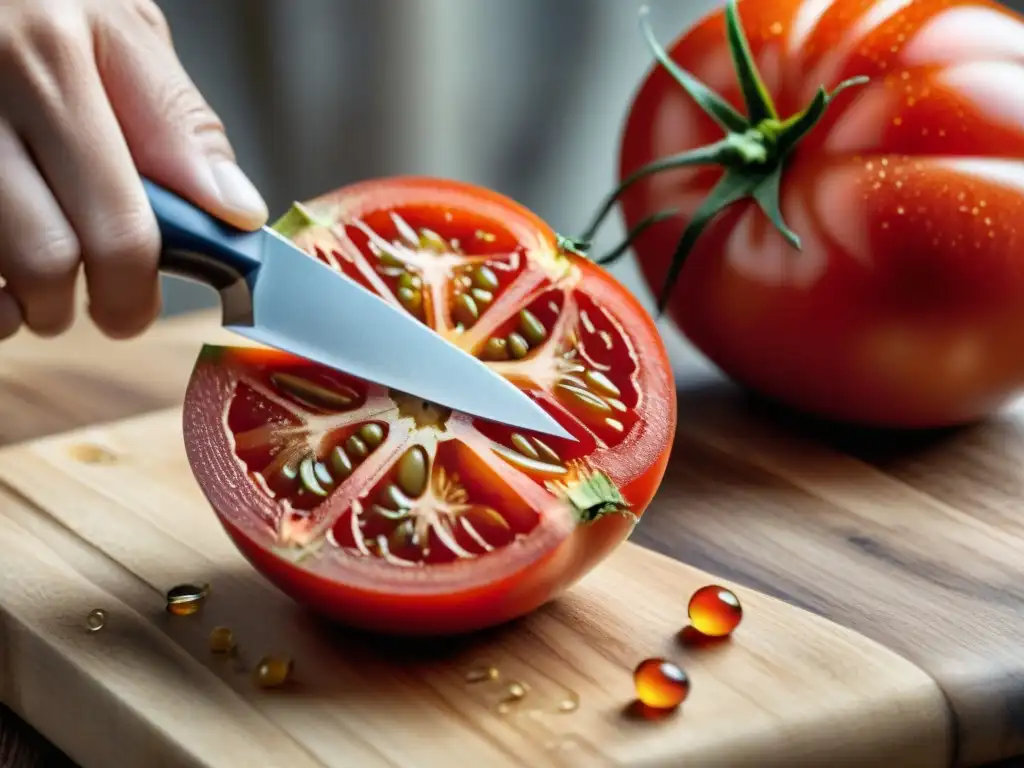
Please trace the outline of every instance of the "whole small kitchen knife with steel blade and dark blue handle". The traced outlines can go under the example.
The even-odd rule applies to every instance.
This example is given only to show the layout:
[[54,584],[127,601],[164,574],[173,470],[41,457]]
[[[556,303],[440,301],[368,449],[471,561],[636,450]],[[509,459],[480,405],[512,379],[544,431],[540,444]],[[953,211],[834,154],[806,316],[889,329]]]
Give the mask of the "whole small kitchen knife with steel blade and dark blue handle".
[[481,419],[575,439],[484,362],[273,229],[237,229],[142,184],[163,240],[160,270],[216,290],[227,330]]

